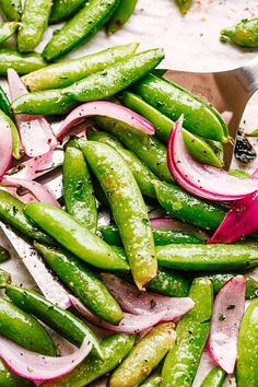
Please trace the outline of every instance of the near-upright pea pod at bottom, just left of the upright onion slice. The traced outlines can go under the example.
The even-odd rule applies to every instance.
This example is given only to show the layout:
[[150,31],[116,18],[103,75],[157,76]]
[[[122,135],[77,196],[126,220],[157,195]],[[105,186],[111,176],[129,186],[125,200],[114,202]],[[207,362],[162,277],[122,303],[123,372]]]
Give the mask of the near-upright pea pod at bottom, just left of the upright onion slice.
[[210,280],[195,279],[189,297],[196,306],[177,324],[176,344],[168,352],[162,368],[162,387],[191,387],[206,345],[213,304]]

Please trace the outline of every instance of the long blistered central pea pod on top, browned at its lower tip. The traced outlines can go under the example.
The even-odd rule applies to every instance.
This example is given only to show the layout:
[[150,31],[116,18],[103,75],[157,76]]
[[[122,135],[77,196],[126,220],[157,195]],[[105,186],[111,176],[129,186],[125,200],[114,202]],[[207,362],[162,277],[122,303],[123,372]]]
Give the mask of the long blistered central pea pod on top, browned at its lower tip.
[[140,290],[155,275],[157,263],[145,203],[126,162],[110,146],[80,140],[80,146],[106,194]]

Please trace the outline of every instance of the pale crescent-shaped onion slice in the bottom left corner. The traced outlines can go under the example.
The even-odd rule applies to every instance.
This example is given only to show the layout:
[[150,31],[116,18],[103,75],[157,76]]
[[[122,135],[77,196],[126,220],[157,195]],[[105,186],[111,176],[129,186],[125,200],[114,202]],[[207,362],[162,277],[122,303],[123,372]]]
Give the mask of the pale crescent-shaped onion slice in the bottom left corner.
[[92,342],[85,337],[79,350],[67,356],[54,357],[27,351],[16,343],[0,337],[0,357],[21,377],[31,380],[51,380],[74,370],[91,352]]

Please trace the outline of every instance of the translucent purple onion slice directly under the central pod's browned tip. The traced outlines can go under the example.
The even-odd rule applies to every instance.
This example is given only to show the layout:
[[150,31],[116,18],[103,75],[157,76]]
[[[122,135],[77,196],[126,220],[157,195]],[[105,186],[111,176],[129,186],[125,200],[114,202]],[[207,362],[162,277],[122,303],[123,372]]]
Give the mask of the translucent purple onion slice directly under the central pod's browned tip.
[[136,286],[112,273],[102,273],[101,277],[122,310],[133,315],[149,315],[165,310],[163,321],[173,321],[195,306],[190,297],[167,297],[151,292],[139,292]]

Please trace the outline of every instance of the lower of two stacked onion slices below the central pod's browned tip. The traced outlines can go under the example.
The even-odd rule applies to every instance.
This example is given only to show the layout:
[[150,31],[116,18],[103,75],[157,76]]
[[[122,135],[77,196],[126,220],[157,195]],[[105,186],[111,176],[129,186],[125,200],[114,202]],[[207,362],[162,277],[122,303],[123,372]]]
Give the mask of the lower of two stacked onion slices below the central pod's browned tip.
[[107,329],[112,332],[120,332],[120,333],[139,333],[144,331],[145,329],[154,327],[156,324],[163,320],[166,315],[166,310],[160,313],[152,313],[150,315],[137,316],[131,315],[129,313],[124,313],[124,318],[119,322],[119,325],[112,325],[104,320],[101,320],[96,315],[94,315],[91,310],[89,310],[80,300],[74,296],[70,296],[71,304],[74,308],[85,317],[90,322]]

